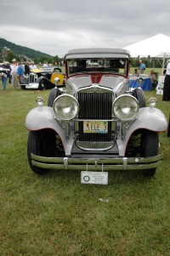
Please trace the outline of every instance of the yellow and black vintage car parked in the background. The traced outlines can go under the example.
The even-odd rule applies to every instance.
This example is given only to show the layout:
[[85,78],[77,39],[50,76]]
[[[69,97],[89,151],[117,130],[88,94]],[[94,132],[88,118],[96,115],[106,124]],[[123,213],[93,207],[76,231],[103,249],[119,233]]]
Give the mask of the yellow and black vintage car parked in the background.
[[29,88],[38,90],[54,88],[55,77],[59,77],[58,86],[65,85],[65,74],[58,66],[48,66],[36,70],[31,70],[29,76],[20,77],[20,87],[22,89]]

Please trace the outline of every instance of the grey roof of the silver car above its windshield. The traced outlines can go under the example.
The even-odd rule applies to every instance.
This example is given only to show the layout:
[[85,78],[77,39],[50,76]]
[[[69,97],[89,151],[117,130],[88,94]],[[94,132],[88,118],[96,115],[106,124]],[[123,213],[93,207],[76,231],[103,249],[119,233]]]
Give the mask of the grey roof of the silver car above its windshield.
[[65,59],[75,58],[128,58],[129,51],[122,48],[77,48],[65,54]]

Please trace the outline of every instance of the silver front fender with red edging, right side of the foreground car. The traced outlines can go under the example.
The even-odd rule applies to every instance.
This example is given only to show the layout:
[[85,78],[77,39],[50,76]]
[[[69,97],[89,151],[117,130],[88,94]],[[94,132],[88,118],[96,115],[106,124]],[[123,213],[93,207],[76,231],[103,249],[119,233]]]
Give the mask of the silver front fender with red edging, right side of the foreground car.
[[117,139],[119,155],[124,156],[127,148],[127,142],[134,131],[146,129],[156,133],[162,133],[167,130],[167,118],[162,111],[156,108],[144,107],[139,109],[137,119],[127,128],[125,139]]

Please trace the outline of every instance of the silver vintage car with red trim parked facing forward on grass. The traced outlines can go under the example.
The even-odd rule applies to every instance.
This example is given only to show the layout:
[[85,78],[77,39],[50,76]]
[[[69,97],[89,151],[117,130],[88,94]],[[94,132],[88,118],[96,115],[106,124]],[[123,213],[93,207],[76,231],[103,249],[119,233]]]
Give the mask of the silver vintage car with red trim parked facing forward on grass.
[[129,89],[130,62],[125,49],[86,48],[65,54],[65,90],[53,88],[48,106],[38,97],[37,107],[26,116],[33,172],[82,170],[85,183],[90,177],[102,183],[99,174],[112,170],[156,173],[163,158],[159,133],[167,130],[167,119],[155,98],[146,106],[144,91]]

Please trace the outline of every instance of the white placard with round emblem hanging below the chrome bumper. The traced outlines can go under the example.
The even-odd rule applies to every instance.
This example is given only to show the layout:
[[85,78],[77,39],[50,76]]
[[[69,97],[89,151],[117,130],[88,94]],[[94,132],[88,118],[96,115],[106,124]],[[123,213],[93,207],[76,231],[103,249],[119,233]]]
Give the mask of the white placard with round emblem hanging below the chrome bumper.
[[106,172],[81,172],[81,183],[82,184],[108,184],[108,173]]

